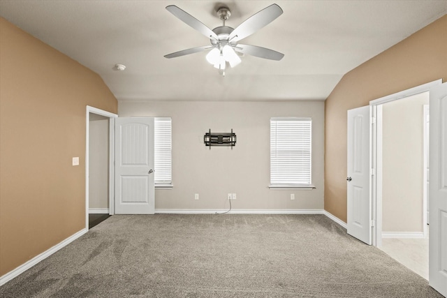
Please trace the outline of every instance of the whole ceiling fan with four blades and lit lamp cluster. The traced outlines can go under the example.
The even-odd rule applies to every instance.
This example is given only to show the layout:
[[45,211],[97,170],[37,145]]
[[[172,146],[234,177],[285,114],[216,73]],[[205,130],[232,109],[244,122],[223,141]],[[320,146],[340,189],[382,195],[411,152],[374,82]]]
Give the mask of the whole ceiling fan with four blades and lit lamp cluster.
[[212,30],[175,5],[166,6],[166,9],[185,24],[196,29],[207,38],[210,38],[211,41],[211,45],[193,47],[191,49],[167,54],[165,55],[166,58],[175,58],[210,50],[206,57],[207,61],[210,62],[210,64],[213,64],[215,68],[219,69],[222,75],[225,75],[227,63],[230,64],[231,67],[234,67],[241,62],[241,59],[236,52],[276,61],[279,61],[284,57],[284,54],[266,49],[265,47],[242,45],[241,43],[238,43],[239,40],[250,36],[279,17],[283,11],[277,4],[272,4],[252,15],[235,29],[225,25],[225,21],[230,17],[230,10],[225,6],[217,10],[217,15],[223,22],[222,26]]

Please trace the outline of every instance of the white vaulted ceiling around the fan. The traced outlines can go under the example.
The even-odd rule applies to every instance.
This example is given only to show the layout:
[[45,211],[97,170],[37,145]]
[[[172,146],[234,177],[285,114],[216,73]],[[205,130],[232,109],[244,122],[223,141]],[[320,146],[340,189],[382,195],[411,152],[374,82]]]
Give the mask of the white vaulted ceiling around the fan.
[[[221,77],[206,52],[163,57],[210,43],[168,5],[213,29],[221,4],[235,28],[272,3],[284,13],[242,43],[282,52],[281,61],[246,55]],[[0,0],[2,17],[101,75],[120,101],[324,100],[349,70],[446,13],[447,0]]]

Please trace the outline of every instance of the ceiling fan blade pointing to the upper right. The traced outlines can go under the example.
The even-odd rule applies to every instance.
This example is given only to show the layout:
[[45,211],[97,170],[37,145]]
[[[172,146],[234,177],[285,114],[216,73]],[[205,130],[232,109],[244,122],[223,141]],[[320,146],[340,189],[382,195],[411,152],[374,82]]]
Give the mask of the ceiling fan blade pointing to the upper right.
[[259,11],[258,13],[252,15],[247,20],[242,22],[233,32],[228,36],[229,40],[236,42],[242,38],[255,33],[259,29],[265,27],[265,25],[270,24],[274,19],[282,14],[282,9],[277,4],[272,4]]

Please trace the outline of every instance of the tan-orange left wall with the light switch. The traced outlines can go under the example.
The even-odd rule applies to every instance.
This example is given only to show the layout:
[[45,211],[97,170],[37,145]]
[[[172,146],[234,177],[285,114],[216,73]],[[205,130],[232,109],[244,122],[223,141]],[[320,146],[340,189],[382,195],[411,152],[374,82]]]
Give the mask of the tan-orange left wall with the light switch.
[[[0,276],[85,228],[86,105],[101,77],[0,18]],[[80,157],[80,165],[71,159]]]

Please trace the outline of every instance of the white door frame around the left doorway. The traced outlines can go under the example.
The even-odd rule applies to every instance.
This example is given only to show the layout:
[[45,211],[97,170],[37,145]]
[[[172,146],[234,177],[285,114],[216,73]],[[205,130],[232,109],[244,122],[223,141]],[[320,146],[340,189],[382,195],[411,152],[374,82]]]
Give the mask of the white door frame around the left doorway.
[[114,153],[114,131],[112,130],[115,123],[115,118],[118,117],[117,114],[113,114],[111,112],[107,112],[104,110],[100,110],[96,107],[91,107],[87,105],[86,114],[85,114],[85,228],[89,229],[89,134],[90,134],[90,113],[98,114],[104,117],[109,118],[109,214],[113,214],[114,210],[113,202],[114,197],[114,166],[113,166],[113,158],[115,156]]

